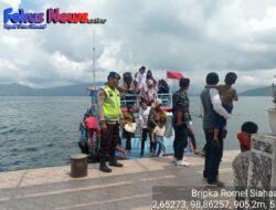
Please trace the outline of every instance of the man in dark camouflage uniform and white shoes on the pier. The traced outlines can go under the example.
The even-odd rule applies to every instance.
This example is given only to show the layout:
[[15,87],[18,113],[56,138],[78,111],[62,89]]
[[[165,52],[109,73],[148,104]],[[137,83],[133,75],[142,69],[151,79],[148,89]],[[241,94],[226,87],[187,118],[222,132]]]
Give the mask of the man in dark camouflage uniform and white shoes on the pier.
[[192,129],[192,119],[189,111],[190,103],[187,94],[189,86],[189,78],[180,78],[180,88],[172,95],[173,150],[177,166],[190,166],[190,164],[183,159],[184,148],[188,145],[188,129]]

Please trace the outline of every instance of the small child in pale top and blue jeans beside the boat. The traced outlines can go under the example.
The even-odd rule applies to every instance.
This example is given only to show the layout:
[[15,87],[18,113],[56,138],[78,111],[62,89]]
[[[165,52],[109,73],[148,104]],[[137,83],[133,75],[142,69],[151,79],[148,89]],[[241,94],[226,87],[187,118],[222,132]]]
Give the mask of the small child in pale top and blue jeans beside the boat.
[[163,145],[163,135],[166,132],[166,119],[162,117],[158,123],[157,126],[155,127],[153,132],[152,132],[152,139],[157,143],[158,145],[158,151],[156,157],[159,157],[159,155],[161,154],[161,151],[163,151],[163,155],[166,155],[166,147]]

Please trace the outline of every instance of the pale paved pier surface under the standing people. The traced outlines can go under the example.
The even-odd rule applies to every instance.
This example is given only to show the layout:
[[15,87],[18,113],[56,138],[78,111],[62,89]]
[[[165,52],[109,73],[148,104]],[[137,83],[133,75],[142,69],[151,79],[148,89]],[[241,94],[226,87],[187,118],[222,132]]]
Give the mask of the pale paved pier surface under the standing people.
[[[232,160],[238,150],[224,153],[220,180],[232,186]],[[70,166],[0,172],[1,210],[117,210],[151,209],[153,186],[204,187],[204,160],[188,156],[190,167],[177,167],[172,157],[124,160],[112,174],[88,165],[88,176],[73,179]]]

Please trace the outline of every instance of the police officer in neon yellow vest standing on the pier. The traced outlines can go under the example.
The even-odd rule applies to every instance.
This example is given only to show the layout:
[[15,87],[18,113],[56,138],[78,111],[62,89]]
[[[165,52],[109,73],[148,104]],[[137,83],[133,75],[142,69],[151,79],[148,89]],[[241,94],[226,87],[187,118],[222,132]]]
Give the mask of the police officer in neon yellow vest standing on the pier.
[[98,115],[100,120],[100,146],[99,146],[99,170],[112,172],[106,165],[109,157],[109,166],[123,167],[123,164],[115,159],[115,151],[119,138],[120,93],[117,90],[120,76],[110,72],[107,76],[107,84],[103,86],[98,95]]

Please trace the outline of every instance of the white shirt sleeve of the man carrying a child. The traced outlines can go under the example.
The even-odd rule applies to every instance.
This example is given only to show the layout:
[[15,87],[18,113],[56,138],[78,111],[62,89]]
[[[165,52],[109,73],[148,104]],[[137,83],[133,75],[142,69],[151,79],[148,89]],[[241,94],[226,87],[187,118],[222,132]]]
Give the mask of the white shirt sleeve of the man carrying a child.
[[[225,119],[230,119],[229,112],[222,106],[222,101],[221,101],[219,91],[216,88],[210,88],[210,96],[211,96],[211,102],[213,104],[214,111],[219,115],[223,116]],[[201,104],[201,114],[202,116],[204,115],[204,107],[202,104]]]

